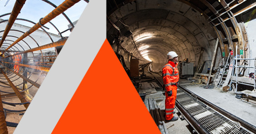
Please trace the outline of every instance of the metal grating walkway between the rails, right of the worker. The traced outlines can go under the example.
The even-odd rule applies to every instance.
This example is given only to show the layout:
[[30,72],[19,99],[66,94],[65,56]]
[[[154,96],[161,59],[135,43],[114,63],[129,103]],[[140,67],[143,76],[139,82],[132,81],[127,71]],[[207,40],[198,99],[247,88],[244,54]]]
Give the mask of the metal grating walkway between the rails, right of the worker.
[[177,89],[177,100],[209,134],[253,134],[239,123],[227,119],[193,96]]

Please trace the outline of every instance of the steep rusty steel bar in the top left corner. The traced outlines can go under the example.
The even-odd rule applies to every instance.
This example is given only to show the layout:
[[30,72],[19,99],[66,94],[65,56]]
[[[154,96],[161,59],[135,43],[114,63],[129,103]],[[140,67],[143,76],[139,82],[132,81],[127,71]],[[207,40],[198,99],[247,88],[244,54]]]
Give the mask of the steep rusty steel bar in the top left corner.
[[14,21],[16,20],[18,14],[19,14],[20,10],[22,9],[23,5],[25,4],[25,2],[26,2],[26,0],[16,0],[13,10],[11,12],[8,24],[5,27],[5,32],[4,32],[1,42],[0,42],[0,47],[4,43],[7,34],[9,33],[12,25],[14,24]]

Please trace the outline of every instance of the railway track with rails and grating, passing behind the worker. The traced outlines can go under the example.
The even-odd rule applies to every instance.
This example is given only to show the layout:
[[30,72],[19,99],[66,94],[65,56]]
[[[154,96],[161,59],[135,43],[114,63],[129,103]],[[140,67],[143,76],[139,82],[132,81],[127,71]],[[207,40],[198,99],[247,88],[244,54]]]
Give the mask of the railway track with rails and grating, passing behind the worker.
[[[149,73],[163,84],[162,76]],[[256,127],[178,86],[176,107],[198,134],[256,134]]]

